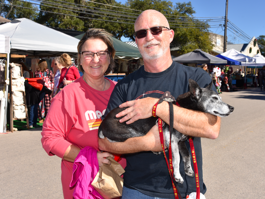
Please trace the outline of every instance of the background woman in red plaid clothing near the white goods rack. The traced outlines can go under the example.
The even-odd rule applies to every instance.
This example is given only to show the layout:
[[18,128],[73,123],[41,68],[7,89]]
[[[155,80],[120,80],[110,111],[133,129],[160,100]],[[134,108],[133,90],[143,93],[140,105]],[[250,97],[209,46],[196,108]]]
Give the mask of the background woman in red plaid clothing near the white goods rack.
[[[53,71],[48,69],[47,62],[44,59],[41,59],[38,63],[37,70],[34,73],[35,77],[44,77],[48,76],[53,88]],[[47,116],[47,113],[51,106],[51,96],[52,92],[45,91],[44,98],[41,100],[39,107],[38,107],[38,117],[39,123],[43,123],[44,118]]]

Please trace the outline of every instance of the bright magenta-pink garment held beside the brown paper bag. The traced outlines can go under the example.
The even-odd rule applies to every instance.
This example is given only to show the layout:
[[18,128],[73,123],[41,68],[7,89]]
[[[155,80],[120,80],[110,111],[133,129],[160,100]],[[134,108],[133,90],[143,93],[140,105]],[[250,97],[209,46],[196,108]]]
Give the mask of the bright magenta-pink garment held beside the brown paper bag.
[[70,183],[70,187],[77,184],[73,194],[75,199],[104,199],[91,185],[98,171],[97,150],[92,147],[81,149],[74,162]]

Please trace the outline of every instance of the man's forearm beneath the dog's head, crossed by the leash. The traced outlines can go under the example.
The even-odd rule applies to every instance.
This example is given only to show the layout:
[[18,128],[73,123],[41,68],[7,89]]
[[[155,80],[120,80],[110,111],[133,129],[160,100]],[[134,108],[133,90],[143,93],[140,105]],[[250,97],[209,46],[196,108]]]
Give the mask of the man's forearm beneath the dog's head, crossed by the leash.
[[[174,129],[186,135],[194,137],[206,137],[215,139],[220,131],[220,117],[193,111],[178,106],[174,108]],[[156,114],[164,122],[169,124],[169,106],[167,102],[158,105]]]

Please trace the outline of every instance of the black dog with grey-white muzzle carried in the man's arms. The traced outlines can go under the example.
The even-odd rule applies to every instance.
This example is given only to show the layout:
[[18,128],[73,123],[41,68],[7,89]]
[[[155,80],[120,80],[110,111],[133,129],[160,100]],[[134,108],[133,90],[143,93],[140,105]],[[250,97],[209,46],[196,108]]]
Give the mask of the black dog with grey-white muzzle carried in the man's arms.
[[[224,103],[221,97],[212,90],[212,82],[206,88],[200,88],[199,85],[189,79],[189,91],[178,96],[177,100],[170,94],[165,92],[163,100],[173,101],[173,104],[178,104],[185,108],[194,111],[207,112],[212,115],[219,117],[226,117],[234,111],[234,107]],[[149,117],[146,119],[140,119],[132,124],[127,125],[125,122],[120,123],[119,119],[115,115],[126,108],[115,108],[110,111],[106,118],[102,121],[98,135],[100,138],[107,138],[110,142],[124,142],[130,137],[137,137],[145,135],[154,125],[156,125],[157,118]],[[169,147],[170,132],[169,125],[164,123],[163,134],[165,137],[165,145]],[[185,145],[185,140],[188,139],[188,135],[182,134],[177,130],[173,129],[171,137],[171,148],[172,148],[172,162],[174,168],[174,178],[177,182],[183,183],[184,180],[181,177],[179,171],[180,155],[183,157],[185,174],[193,177],[194,172],[190,163],[190,155]]]

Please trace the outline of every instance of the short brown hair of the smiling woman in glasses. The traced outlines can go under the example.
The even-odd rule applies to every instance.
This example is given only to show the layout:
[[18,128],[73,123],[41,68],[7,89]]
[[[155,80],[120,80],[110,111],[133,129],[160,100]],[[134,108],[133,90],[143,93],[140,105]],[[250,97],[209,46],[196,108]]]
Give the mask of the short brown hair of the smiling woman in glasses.
[[104,75],[107,75],[111,71],[113,71],[113,68],[115,67],[114,57],[116,50],[113,47],[113,41],[112,41],[112,35],[108,33],[104,29],[100,28],[91,28],[86,31],[86,33],[83,35],[82,39],[79,41],[78,44],[78,66],[79,70],[84,73],[83,67],[80,65],[80,52],[82,51],[83,44],[89,40],[89,39],[100,39],[107,45],[107,50],[109,51],[110,55],[110,64],[104,73]]

